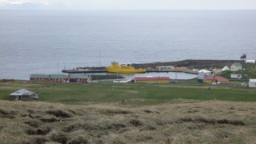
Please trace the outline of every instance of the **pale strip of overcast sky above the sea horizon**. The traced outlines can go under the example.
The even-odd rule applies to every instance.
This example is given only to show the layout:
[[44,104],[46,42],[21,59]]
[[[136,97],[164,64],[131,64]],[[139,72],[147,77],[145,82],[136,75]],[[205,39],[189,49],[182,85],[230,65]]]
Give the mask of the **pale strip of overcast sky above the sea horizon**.
[[23,2],[64,3],[70,10],[256,10],[256,0],[0,0]]

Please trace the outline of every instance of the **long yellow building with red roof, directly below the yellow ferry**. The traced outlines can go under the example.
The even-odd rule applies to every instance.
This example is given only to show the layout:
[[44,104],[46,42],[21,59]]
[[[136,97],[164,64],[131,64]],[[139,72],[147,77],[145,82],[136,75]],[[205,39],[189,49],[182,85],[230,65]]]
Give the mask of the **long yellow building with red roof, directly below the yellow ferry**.
[[145,83],[169,83],[169,77],[135,77],[134,82],[145,82]]

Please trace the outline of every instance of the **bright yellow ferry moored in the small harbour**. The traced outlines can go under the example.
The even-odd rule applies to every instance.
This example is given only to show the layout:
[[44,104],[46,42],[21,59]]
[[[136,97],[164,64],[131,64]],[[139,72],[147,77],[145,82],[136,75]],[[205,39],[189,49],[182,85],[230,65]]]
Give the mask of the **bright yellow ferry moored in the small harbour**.
[[118,66],[118,62],[111,62],[111,66],[106,66],[110,73],[146,73],[146,69],[134,69],[134,66]]

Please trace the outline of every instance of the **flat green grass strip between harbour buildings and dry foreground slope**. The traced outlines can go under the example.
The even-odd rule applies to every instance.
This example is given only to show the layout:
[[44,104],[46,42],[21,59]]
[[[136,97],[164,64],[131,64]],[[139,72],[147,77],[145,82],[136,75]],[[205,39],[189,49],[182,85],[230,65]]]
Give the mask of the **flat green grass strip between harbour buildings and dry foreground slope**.
[[[114,86],[114,90],[113,90]],[[137,84],[78,84],[60,83],[58,85],[26,85],[0,84],[0,99],[9,100],[10,93],[25,88],[39,94],[42,102],[60,102],[64,104],[109,103],[123,99],[154,99],[161,103],[174,98],[194,100],[224,100],[256,102],[256,89],[218,86],[208,90],[208,86],[174,86],[167,85],[137,85]],[[155,103],[153,102],[153,103]],[[139,102],[138,102],[139,103]],[[150,102],[143,102],[150,105]],[[152,104],[153,104],[152,103]]]

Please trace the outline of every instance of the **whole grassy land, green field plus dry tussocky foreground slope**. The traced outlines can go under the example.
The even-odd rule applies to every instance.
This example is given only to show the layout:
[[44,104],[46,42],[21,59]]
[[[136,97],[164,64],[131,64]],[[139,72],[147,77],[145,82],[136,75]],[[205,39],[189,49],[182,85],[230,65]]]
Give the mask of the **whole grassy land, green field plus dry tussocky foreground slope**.
[[0,83],[0,143],[256,143],[256,89],[208,88]]

